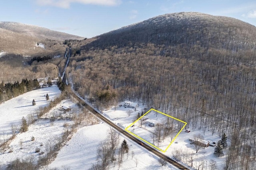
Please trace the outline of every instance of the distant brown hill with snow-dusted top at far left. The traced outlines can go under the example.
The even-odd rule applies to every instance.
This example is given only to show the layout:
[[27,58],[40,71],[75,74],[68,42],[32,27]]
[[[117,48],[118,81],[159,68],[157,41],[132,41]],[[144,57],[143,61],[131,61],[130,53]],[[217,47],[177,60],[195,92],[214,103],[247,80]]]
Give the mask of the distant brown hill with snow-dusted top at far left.
[[[17,22],[0,22],[0,52],[30,56],[38,53],[54,53],[63,47],[65,39],[84,39],[76,35],[53,31],[36,25]],[[42,46],[36,46],[43,43]],[[50,50],[50,51],[49,51]],[[61,51],[65,51],[62,49]],[[0,56],[1,57],[1,56]]]

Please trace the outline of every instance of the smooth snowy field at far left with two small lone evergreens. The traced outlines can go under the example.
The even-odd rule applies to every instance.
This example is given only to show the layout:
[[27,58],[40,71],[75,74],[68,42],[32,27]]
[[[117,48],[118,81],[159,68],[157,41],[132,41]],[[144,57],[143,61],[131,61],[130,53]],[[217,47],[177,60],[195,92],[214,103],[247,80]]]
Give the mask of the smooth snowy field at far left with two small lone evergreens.
[[[50,100],[46,101],[46,94],[50,100],[60,96],[61,92],[56,85],[48,88],[40,88],[12,98],[0,104],[0,139],[9,139],[12,136],[12,125],[20,125],[22,117],[27,119],[30,114],[35,114],[39,108],[48,106]],[[32,106],[32,100],[36,105]]]

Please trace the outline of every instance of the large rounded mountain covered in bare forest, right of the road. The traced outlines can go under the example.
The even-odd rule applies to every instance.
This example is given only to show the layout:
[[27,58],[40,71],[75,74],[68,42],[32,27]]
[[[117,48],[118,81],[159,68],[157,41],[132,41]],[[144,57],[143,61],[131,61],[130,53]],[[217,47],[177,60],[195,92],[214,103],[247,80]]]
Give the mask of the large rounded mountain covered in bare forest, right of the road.
[[69,78],[100,109],[140,101],[191,129],[226,133],[231,143],[225,169],[256,166],[255,26],[181,12],[72,47],[81,51],[70,59]]

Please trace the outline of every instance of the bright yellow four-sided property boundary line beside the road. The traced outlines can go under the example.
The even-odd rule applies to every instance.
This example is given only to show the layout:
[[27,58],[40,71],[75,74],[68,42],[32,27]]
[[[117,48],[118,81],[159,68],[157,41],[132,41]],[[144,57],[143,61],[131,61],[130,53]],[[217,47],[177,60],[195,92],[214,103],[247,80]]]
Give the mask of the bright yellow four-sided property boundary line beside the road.
[[[148,113],[149,113],[150,111],[152,111],[152,110],[153,110],[153,111],[156,111],[156,112],[158,112],[158,113],[161,113],[161,114],[163,114],[163,115],[166,115],[165,113],[162,113],[161,111],[158,111],[158,110],[155,110],[155,109],[150,109],[150,110],[147,111],[144,115],[148,114]],[[131,127],[132,125],[134,125],[134,123],[136,123],[137,121],[139,121],[144,115],[142,115],[140,118],[138,118],[138,119],[137,119],[136,121],[134,121],[132,124],[130,124],[130,125],[129,125],[128,127],[126,127],[124,130],[127,131],[128,133],[134,135],[134,136],[137,137],[138,139],[140,139],[140,140],[142,140],[142,141],[148,143],[148,144],[151,145],[152,147],[154,147],[154,148],[156,148],[156,149],[162,151],[162,152],[166,152],[166,150],[172,145],[172,143],[174,142],[174,140],[176,139],[176,137],[178,137],[178,135],[180,134],[180,132],[181,132],[181,131],[184,129],[184,127],[187,125],[186,122],[184,122],[184,121],[182,121],[182,120],[180,120],[180,119],[177,119],[177,118],[172,117],[172,116],[170,116],[170,115],[166,115],[166,116],[168,116],[168,117],[171,117],[172,119],[175,119],[175,120],[177,120],[177,121],[180,121],[180,122],[184,123],[184,126],[180,129],[180,131],[179,131],[178,134],[174,137],[174,139],[172,139],[170,145],[168,145],[168,147],[167,147],[165,150],[162,150],[162,149],[156,147],[155,145],[153,145],[152,143],[146,141],[145,139],[142,139],[142,138],[139,137],[138,135],[135,135],[135,134],[132,133],[131,131],[128,131],[128,128]]]

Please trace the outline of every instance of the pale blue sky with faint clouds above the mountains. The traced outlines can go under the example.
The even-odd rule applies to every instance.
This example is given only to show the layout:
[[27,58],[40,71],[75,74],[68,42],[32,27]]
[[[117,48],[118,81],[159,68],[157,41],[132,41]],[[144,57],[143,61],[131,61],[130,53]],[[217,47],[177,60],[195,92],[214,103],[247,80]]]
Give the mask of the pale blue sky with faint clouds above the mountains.
[[5,0],[0,21],[90,38],[174,12],[229,16],[256,25],[255,0]]

